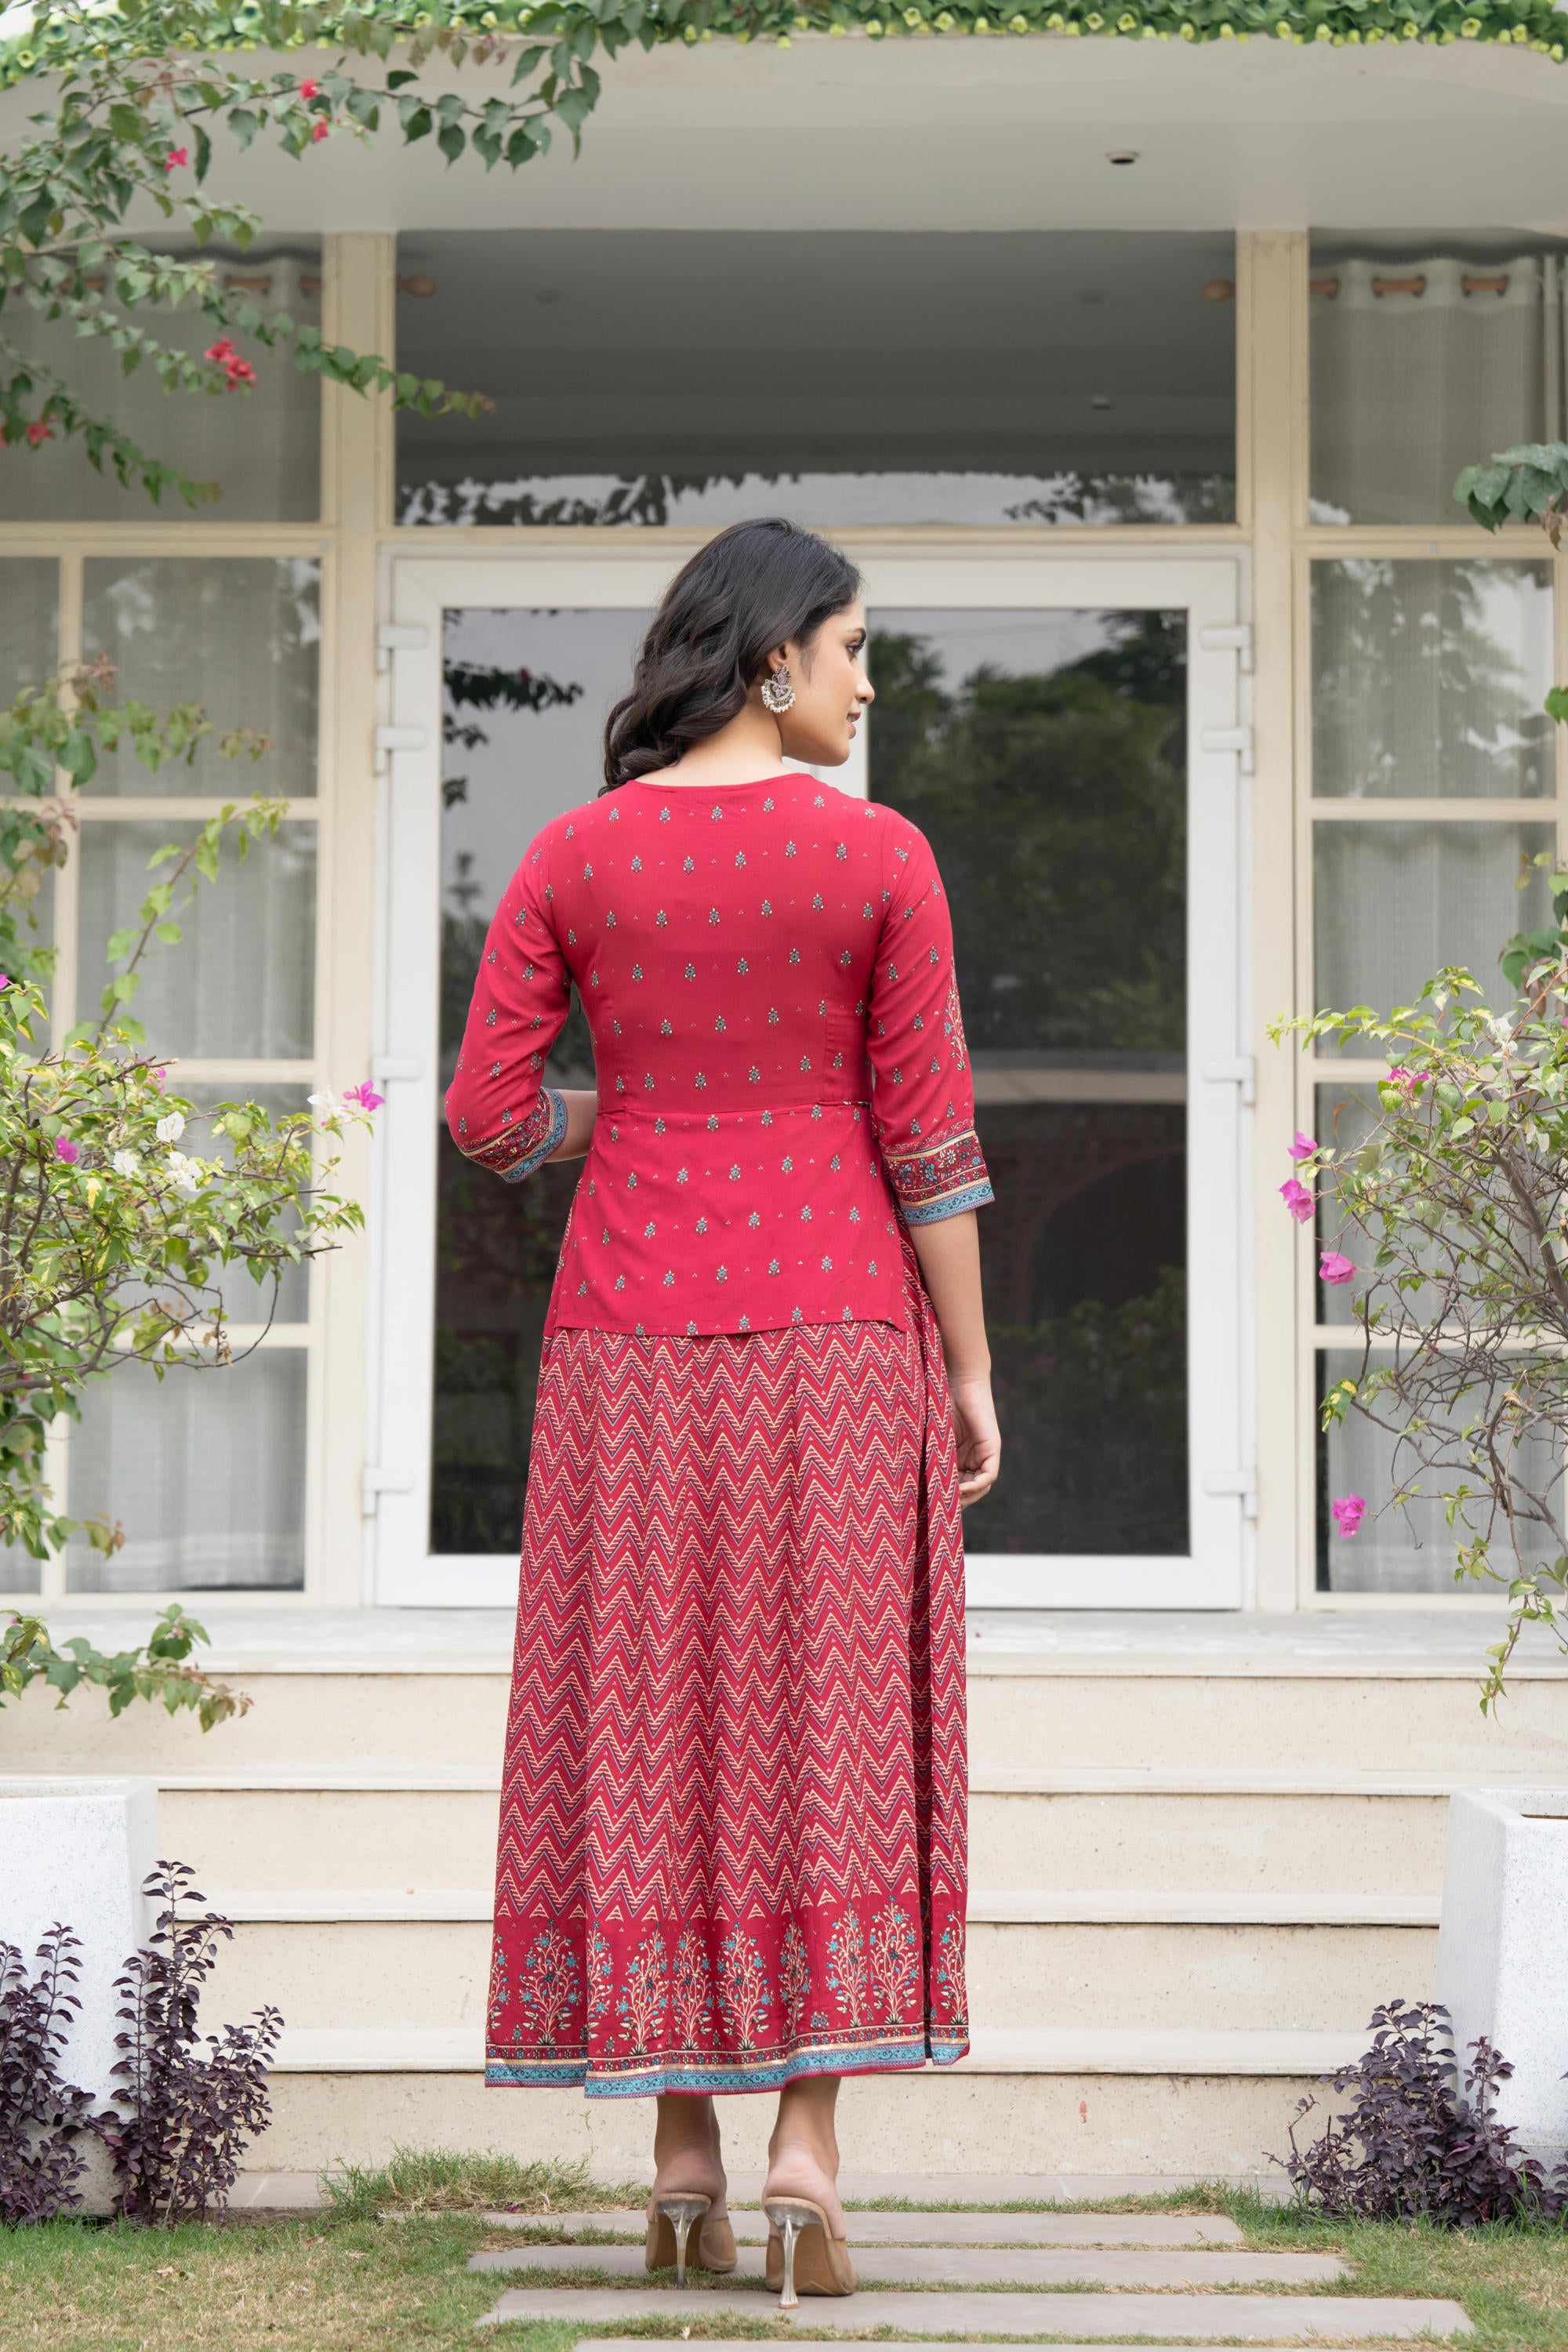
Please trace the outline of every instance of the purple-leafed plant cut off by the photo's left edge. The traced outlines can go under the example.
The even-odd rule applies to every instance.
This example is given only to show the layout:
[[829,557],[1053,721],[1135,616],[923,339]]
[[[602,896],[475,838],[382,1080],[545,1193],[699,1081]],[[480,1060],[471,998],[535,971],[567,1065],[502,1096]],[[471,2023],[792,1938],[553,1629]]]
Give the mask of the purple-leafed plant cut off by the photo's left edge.
[[0,1943],[0,2223],[54,2220],[80,2206],[87,2159],[78,2138],[96,2126],[92,2098],[61,2074],[80,1940],[59,1922],[38,1945],[31,1978],[21,1950]]

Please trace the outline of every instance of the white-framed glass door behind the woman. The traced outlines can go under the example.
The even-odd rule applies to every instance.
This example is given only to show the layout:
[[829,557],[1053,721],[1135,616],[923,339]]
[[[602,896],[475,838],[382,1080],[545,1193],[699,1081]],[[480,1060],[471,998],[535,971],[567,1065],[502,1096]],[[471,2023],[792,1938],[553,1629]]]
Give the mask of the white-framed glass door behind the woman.
[[[543,1315],[576,1167],[510,1188],[440,1101],[489,915],[599,786],[668,562],[407,562],[388,776],[383,1602],[515,1592]],[[1004,1479],[992,1606],[1237,1606],[1244,734],[1234,564],[867,564],[877,703],[830,776],[931,837],[954,915]],[[395,946],[393,946],[395,941]],[[581,1011],[550,1080],[590,1084]]]

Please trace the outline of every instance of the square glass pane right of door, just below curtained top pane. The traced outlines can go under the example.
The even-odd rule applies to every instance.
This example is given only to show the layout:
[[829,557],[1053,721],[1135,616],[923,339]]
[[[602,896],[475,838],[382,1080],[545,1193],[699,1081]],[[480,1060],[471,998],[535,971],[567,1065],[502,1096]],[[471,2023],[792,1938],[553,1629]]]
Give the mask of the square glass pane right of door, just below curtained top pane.
[[1552,567],[1312,567],[1319,800],[1542,800],[1556,790]]

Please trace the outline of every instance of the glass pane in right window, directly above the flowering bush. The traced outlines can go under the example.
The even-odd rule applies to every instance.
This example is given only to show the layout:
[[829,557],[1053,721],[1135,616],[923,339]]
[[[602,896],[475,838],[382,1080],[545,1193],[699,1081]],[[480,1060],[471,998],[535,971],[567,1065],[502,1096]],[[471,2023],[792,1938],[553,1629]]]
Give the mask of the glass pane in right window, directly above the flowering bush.
[[1552,913],[1530,868],[1554,847],[1549,826],[1316,823],[1312,835],[1314,1004],[1392,1011],[1443,964],[1467,964],[1507,1002],[1497,957]]

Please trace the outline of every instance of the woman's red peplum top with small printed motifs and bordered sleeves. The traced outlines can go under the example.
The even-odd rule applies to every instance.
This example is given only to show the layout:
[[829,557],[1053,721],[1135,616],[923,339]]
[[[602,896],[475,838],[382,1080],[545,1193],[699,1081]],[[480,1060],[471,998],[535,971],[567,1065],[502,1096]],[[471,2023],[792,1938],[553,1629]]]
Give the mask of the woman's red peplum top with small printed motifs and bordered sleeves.
[[447,1094],[508,1181],[562,1141],[576,983],[599,1115],[548,1331],[905,1324],[898,1218],[992,1197],[926,837],[816,776],[623,783],[529,844]]

